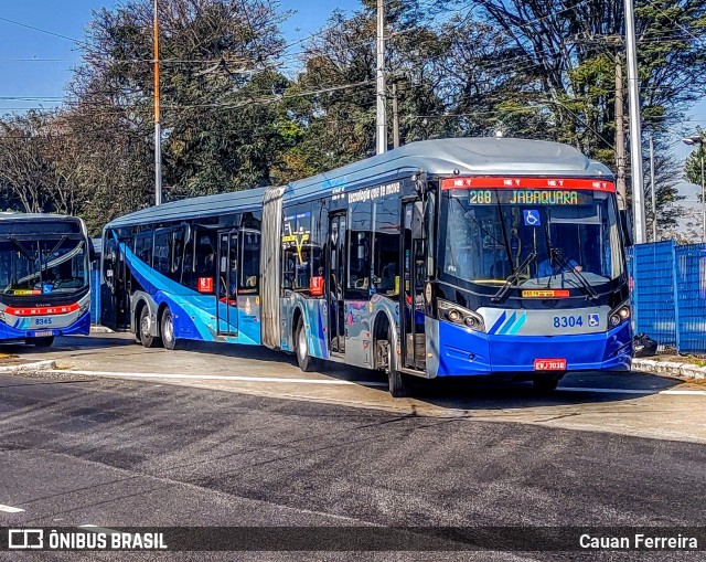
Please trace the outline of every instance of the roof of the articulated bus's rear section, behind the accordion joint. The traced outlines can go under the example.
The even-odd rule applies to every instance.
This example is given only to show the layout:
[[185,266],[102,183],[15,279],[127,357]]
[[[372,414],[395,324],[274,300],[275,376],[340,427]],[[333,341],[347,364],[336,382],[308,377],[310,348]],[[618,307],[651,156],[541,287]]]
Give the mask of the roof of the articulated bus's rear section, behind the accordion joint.
[[203,195],[199,198],[172,201],[159,206],[149,206],[115,219],[106,227],[119,229],[133,224],[151,224],[160,222],[173,222],[182,219],[197,219],[200,216],[214,216],[225,213],[238,213],[255,211],[263,208],[264,188],[247,189],[216,195]]

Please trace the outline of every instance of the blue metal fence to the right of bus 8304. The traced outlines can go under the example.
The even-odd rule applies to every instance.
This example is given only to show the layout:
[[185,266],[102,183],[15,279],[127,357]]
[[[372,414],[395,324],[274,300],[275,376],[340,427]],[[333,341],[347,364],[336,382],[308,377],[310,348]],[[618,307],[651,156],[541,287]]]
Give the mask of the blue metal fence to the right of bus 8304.
[[635,332],[706,353],[706,244],[639,244],[628,255]]

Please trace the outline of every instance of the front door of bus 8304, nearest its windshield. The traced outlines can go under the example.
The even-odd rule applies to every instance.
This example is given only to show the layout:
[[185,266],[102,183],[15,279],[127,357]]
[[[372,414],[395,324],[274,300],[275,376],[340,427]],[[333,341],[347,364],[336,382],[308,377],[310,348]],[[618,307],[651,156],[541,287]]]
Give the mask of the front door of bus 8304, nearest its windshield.
[[404,367],[424,371],[426,367],[425,335],[425,243],[421,201],[403,205],[405,235],[403,242],[403,290],[400,290],[402,356]]

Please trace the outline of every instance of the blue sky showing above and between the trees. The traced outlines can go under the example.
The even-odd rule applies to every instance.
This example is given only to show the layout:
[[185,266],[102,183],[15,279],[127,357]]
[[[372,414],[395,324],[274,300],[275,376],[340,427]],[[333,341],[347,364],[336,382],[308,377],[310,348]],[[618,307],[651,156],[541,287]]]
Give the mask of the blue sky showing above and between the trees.
[[[52,33],[81,40],[94,10],[114,8],[118,3],[116,0],[3,1],[0,8],[0,114],[58,105],[71,70],[81,61],[81,53],[74,42]],[[335,3],[280,0],[280,3],[282,10],[296,11],[284,28],[289,42],[322,28],[334,8],[352,11],[360,6],[359,0],[336,0]],[[292,47],[295,50],[299,46]],[[692,119],[682,124],[681,130],[671,134],[672,150],[678,158],[685,158],[691,151],[680,141],[681,136],[693,131],[697,125],[706,127],[706,100],[693,108]],[[689,199],[694,199],[694,190],[695,187],[682,187],[682,192]]]

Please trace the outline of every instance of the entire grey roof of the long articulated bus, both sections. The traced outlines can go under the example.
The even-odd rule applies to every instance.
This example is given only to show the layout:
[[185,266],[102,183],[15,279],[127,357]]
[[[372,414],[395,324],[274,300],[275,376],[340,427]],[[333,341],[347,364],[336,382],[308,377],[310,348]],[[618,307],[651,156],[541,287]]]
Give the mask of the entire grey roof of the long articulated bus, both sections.
[[[458,170],[459,176],[612,177],[608,167],[588,159],[568,145],[463,137],[410,142],[383,155],[295,181],[287,187],[285,200],[303,200],[334,188],[360,184],[373,178],[392,179],[418,170],[432,176],[452,176]],[[258,188],[173,201],[115,219],[107,226],[172,222],[256,210],[263,205],[264,193],[265,189]]]

